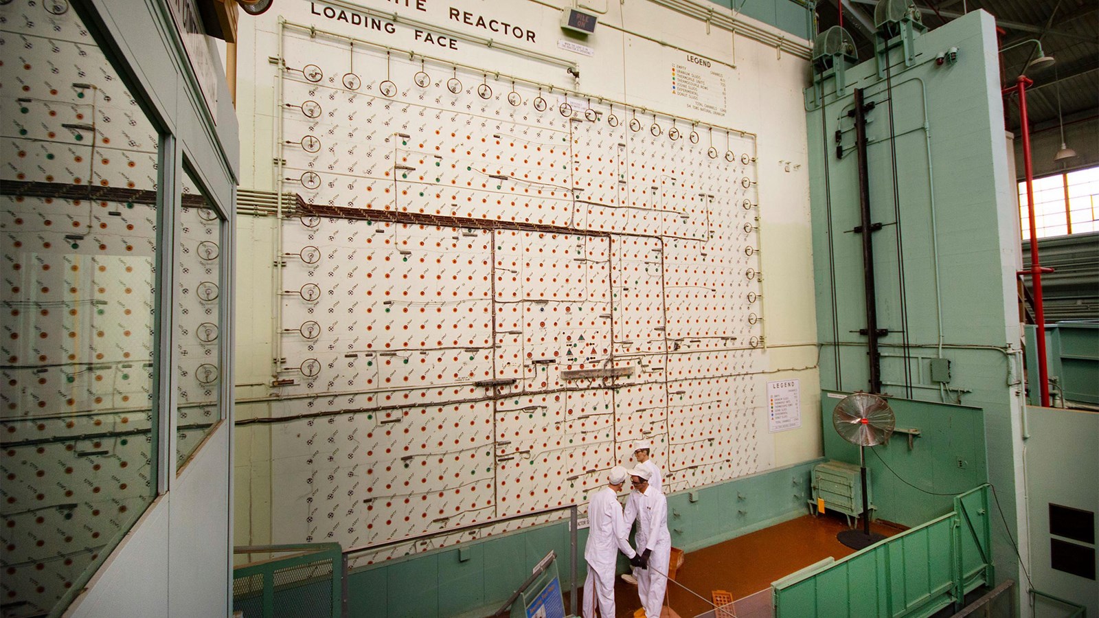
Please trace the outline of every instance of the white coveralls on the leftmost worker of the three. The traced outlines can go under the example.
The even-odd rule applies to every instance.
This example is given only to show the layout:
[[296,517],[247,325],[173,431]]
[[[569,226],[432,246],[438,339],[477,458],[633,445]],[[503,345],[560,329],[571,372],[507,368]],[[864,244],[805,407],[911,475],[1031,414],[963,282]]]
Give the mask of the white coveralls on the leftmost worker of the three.
[[630,528],[622,520],[622,505],[610,487],[596,492],[588,501],[588,542],[584,560],[588,562],[588,577],[584,581],[584,618],[595,618],[596,599],[603,618],[614,618],[614,567],[618,552],[626,558],[636,552],[626,537]]

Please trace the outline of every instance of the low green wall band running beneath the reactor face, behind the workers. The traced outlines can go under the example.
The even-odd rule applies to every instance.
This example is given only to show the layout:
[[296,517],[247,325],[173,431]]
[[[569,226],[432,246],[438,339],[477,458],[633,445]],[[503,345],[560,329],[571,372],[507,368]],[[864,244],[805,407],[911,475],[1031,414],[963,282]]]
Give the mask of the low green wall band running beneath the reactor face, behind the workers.
[[[668,496],[671,544],[708,547],[808,514],[809,473],[823,460],[745,476]],[[578,585],[587,576],[578,540]],[[480,617],[498,609],[542,558],[557,553],[562,588],[569,587],[568,519],[462,543],[434,552],[353,569],[351,616],[370,618]],[[625,572],[625,562],[619,570]]]

